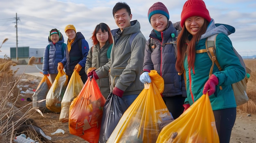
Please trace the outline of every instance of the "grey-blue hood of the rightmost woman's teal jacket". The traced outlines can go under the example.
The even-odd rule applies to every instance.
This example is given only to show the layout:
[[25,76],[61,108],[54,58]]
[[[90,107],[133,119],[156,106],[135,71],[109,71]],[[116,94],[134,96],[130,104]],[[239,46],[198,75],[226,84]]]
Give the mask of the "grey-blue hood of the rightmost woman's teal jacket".
[[218,34],[218,33],[224,33],[226,35],[230,35],[232,33],[235,33],[235,31],[236,30],[233,26],[230,26],[227,24],[215,24],[214,20],[211,19],[211,22],[209,23],[207,30],[201,36],[200,39],[204,39],[204,38],[210,37],[211,35]]

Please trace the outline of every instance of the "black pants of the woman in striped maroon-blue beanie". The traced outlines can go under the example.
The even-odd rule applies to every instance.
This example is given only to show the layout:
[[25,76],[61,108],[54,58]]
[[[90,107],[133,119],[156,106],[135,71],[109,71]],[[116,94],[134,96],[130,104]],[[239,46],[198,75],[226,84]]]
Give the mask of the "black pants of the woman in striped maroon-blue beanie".
[[163,100],[174,119],[177,119],[183,113],[185,97],[177,95],[174,97],[163,97]]

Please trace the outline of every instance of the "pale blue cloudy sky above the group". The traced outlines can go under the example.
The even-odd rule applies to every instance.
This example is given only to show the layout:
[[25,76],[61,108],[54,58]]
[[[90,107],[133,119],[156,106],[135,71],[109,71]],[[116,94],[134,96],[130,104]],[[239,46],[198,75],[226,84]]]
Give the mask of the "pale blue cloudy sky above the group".
[[[10,57],[10,47],[16,47],[16,13],[18,18],[18,47],[45,48],[49,31],[58,29],[67,43],[64,29],[73,24],[92,46],[92,32],[101,22],[117,29],[112,9],[120,0],[1,0],[0,4],[0,58]],[[146,39],[153,29],[148,22],[148,9],[155,2],[166,5],[171,22],[180,21],[186,0],[122,0],[131,9],[132,20],[138,20]],[[233,46],[242,56],[256,55],[256,1],[255,0],[204,0],[215,23],[234,26],[229,35]]]

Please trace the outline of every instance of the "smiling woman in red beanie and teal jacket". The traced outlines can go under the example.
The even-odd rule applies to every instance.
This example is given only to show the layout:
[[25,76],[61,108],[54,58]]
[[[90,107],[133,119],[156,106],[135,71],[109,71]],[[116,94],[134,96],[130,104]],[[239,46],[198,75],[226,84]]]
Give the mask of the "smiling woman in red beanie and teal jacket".
[[[228,37],[235,29],[226,24],[215,24],[204,1],[188,0],[181,13],[183,27],[177,39],[176,69],[186,75],[187,98],[190,106],[203,94],[209,95],[220,143],[229,143],[236,120],[236,101],[231,84],[245,77],[245,69],[233,51]],[[206,49],[207,37],[216,35],[216,57],[222,71],[213,65]],[[220,86],[222,88],[220,88]]]

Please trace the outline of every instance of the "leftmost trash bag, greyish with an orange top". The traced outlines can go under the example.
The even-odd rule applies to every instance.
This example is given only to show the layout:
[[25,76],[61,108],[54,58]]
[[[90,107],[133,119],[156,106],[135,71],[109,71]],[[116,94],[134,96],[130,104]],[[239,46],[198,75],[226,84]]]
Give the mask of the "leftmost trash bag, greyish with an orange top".
[[[41,79],[40,83],[38,84],[36,91],[32,95],[33,99],[33,108],[38,107],[41,112],[48,112],[49,110],[46,108],[46,95],[49,89],[51,88],[52,83],[48,79],[47,75],[44,75]],[[43,101],[41,101],[43,100]],[[39,102],[38,102],[39,101]]]

